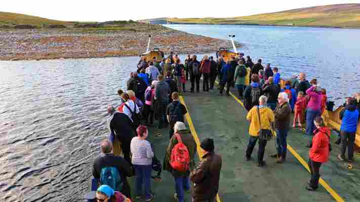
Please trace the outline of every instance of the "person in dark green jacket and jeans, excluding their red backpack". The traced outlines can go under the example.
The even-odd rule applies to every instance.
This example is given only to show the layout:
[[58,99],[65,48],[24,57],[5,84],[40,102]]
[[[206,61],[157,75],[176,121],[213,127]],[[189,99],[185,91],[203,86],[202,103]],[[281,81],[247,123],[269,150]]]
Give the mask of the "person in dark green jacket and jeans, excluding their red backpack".
[[[196,153],[196,142],[190,131],[186,129],[186,126],[183,122],[176,122],[174,125],[174,130],[175,135],[172,136],[170,139],[170,143],[168,145],[164,158],[163,168],[164,170],[169,171],[174,177],[176,190],[176,193],[174,194],[175,200],[183,202],[184,192],[190,190],[190,171],[192,171],[195,167],[194,157]],[[177,145],[179,142],[182,142],[186,146],[189,153],[189,167],[185,171],[176,170],[171,166],[171,156],[173,153],[173,149],[175,149],[175,145]]]

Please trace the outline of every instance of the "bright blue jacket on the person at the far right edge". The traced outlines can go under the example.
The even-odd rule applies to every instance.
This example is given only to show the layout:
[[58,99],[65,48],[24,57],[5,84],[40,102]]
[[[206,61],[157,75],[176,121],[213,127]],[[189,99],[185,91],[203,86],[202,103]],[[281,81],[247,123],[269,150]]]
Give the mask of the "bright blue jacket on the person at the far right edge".
[[355,105],[346,106],[342,117],[340,130],[344,132],[356,132],[358,118],[359,118],[359,111],[356,109],[356,106]]

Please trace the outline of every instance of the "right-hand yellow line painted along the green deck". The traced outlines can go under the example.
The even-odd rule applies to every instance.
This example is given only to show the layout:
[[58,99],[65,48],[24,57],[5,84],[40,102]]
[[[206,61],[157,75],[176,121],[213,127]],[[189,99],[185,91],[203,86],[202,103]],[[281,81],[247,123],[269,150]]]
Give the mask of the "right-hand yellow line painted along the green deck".
[[[218,84],[218,82],[216,81],[216,83]],[[241,100],[239,100],[235,95],[233,95],[231,92],[230,92],[230,95],[235,98],[236,102],[239,103],[240,105],[242,105],[244,107],[244,104],[243,102],[241,102]],[[274,134],[276,136],[276,132],[274,131]],[[295,149],[293,149],[293,147],[291,147],[289,144],[288,144],[288,150],[291,152],[291,154],[294,155],[294,157],[305,167],[305,169],[307,171],[310,172],[310,169],[307,165],[307,163],[305,162],[305,160],[300,157],[300,155],[295,151]],[[321,185],[323,185],[323,187],[334,197],[334,199],[337,201],[337,202],[344,202],[344,200],[341,198],[341,196],[335,192],[334,189],[332,189],[328,183],[325,182],[325,180],[323,178],[320,178],[319,179],[319,183]]]

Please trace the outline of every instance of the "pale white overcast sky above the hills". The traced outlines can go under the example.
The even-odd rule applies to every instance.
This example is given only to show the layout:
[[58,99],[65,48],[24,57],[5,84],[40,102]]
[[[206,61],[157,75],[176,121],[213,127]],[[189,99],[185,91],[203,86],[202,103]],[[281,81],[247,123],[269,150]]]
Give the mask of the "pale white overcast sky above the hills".
[[[56,3],[55,3],[56,2]],[[0,11],[64,21],[140,20],[177,17],[236,17],[331,4],[360,3],[360,0],[302,1],[139,1],[139,0],[3,0]]]

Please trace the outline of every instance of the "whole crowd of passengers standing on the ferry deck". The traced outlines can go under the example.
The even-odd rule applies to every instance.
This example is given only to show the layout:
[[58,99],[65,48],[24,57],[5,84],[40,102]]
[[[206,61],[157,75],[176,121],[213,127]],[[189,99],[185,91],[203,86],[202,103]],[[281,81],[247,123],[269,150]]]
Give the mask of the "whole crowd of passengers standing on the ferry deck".
[[[179,95],[186,92],[186,82],[190,80],[190,92],[198,93],[201,78],[204,92],[214,90],[216,79],[219,81],[219,95],[222,95],[225,88],[226,95],[229,95],[230,88],[236,87],[238,97],[249,111],[246,118],[250,121],[250,138],[245,160],[251,160],[253,149],[259,140],[259,167],[265,165],[265,146],[272,138],[273,131],[276,132],[276,154],[270,157],[276,158],[276,163],[284,163],[291,124],[294,128],[298,125],[303,131],[302,127],[306,122],[304,132],[309,136],[306,146],[310,147],[308,165],[311,171],[306,189],[316,190],[319,168],[328,161],[331,150],[330,129],[322,118],[328,101],[326,90],[318,85],[316,79],[307,81],[305,73],[300,73],[299,79],[297,74],[293,74],[290,80],[281,85],[279,69],[271,68],[271,64],[264,68],[261,63],[262,60],[259,59],[254,64],[250,56],[245,60],[243,54],[239,57],[219,57],[217,61],[208,56],[198,61],[195,55],[188,55],[184,63],[173,53],[161,62],[156,61],[156,58],[147,61],[142,57],[137,65],[138,70],[130,75],[127,90],[119,89],[117,92],[120,105],[107,107],[110,135],[107,140],[102,141],[102,156],[94,161],[93,166],[92,190],[97,190],[97,200],[130,200],[131,189],[127,178],[135,175],[136,198],[141,198],[145,193],[145,200],[151,201],[155,193],[151,191],[150,181],[151,178],[159,179],[161,170],[173,175],[174,198],[177,201],[184,201],[184,193],[190,187],[192,201],[215,200],[219,190],[221,157],[214,153],[214,140],[206,138],[200,145],[204,156],[198,166],[195,166],[196,143],[191,132],[186,129],[186,107],[179,102]],[[247,80],[250,80],[249,85]],[[360,93],[356,93],[353,98],[347,99],[341,113],[342,125],[338,141],[342,144],[341,154],[338,155],[340,161],[353,161],[359,103]],[[154,119],[157,120],[157,126],[154,126]],[[154,147],[147,140],[148,127],[169,127],[170,142],[163,164],[156,158]],[[114,156],[114,138],[121,142],[124,158]],[[158,174],[151,176],[152,170],[158,171]],[[98,188],[98,185],[101,186]]]

